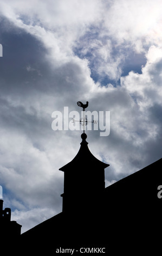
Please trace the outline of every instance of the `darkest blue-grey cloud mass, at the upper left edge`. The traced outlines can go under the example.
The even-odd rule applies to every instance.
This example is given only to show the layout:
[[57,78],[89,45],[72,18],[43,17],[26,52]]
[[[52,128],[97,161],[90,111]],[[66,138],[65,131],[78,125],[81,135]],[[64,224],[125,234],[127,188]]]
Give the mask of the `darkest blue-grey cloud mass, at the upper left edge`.
[[[2,25],[4,20],[6,19],[1,21]],[[8,31],[5,31],[6,26]],[[32,87],[38,86],[37,78],[48,70],[44,59],[46,50],[32,35],[23,29],[17,29],[10,22],[2,26],[0,36],[4,48],[0,68],[1,91],[13,94],[29,93]],[[41,84],[39,86],[41,89]]]

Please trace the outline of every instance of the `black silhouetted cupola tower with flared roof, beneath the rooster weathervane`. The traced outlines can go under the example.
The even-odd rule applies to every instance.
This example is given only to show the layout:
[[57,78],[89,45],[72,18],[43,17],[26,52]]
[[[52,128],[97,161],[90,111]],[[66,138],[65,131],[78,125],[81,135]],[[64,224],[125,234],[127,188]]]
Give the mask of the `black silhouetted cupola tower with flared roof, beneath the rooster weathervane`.
[[81,135],[81,147],[74,159],[60,168],[64,172],[62,211],[84,214],[101,211],[105,191],[105,168],[109,164],[96,159],[88,148],[86,133]]

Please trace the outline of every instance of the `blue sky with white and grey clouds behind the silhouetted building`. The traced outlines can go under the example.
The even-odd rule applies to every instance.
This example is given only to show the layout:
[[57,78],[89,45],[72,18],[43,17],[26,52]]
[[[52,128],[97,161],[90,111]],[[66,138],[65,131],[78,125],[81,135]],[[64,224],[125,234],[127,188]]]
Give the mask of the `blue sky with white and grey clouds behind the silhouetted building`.
[[22,232],[61,212],[59,168],[80,148],[54,111],[110,111],[109,136],[87,131],[107,186],[161,158],[161,13],[161,0],[0,0],[0,185]]

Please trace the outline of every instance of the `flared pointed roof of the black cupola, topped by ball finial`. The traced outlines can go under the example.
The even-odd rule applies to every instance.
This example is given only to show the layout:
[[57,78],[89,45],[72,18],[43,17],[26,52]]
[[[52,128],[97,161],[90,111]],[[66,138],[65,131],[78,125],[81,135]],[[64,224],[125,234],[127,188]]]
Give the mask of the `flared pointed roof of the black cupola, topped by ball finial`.
[[107,163],[103,163],[100,160],[96,159],[96,157],[90,152],[88,148],[88,142],[86,141],[87,135],[86,133],[82,133],[81,135],[82,142],[81,147],[77,155],[74,157],[74,159],[67,163],[65,166],[61,167],[59,170],[62,170],[64,172],[67,169],[75,169],[76,167],[80,167],[84,163],[86,166],[95,166],[95,168],[102,168],[105,169],[109,166]]

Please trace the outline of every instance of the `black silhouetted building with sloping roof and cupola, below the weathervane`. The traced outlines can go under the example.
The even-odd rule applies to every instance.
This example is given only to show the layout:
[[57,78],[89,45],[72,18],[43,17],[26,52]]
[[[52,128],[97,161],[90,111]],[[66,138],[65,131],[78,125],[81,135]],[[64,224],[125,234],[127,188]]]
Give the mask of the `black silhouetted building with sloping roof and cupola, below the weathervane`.
[[77,155],[60,168],[62,212],[21,235],[25,252],[53,255],[69,248],[75,254],[83,248],[90,252],[105,248],[109,255],[155,252],[161,238],[162,199],[157,194],[162,159],[105,188],[109,164],[90,153],[85,133],[81,138]]

